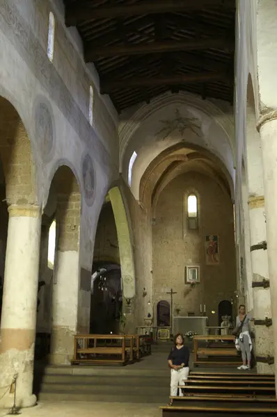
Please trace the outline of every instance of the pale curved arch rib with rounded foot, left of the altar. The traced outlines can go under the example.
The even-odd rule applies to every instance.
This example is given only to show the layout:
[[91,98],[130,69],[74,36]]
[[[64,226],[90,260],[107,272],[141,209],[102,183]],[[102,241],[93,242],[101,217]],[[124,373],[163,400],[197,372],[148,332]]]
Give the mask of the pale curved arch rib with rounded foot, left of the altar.
[[127,212],[118,186],[113,186],[108,194],[118,234],[123,295],[125,298],[132,298],[136,293],[136,282],[132,234],[127,219]]

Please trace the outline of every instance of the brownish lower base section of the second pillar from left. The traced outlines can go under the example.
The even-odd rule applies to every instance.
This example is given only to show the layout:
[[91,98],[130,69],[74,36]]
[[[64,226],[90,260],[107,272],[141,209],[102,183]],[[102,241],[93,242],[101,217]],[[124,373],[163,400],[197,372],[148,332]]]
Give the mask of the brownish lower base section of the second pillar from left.
[[53,327],[49,363],[52,365],[70,365],[74,354],[74,335],[76,333],[76,329],[70,327]]

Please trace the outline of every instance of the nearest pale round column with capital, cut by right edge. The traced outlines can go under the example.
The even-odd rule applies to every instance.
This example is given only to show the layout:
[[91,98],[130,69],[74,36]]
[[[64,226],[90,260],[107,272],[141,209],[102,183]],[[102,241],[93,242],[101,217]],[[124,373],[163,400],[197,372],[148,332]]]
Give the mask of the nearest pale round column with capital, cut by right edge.
[[[274,368],[277,371],[277,111],[263,115],[258,122],[262,142],[264,166],[264,202],[267,220],[267,256],[269,264],[271,318],[273,338],[271,352],[274,351]],[[261,290],[262,291],[262,290]]]

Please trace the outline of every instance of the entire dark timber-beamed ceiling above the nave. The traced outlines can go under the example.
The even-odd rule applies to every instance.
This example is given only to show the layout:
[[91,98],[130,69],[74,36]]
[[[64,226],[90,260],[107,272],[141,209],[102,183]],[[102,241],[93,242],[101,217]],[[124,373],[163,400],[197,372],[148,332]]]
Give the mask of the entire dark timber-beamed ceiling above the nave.
[[235,0],[63,0],[118,112],[187,90],[232,103]]

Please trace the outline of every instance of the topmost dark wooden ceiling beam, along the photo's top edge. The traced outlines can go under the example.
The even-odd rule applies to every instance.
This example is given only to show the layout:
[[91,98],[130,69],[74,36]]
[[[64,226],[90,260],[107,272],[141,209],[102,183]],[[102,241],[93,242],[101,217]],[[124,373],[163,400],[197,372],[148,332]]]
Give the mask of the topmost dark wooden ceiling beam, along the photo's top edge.
[[234,0],[145,0],[140,3],[117,6],[90,6],[87,1],[77,1],[65,8],[66,26],[77,26],[91,19],[113,19],[134,15],[173,13],[203,8],[235,8]]

